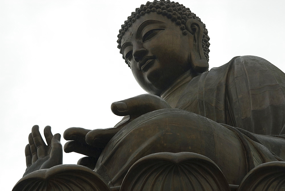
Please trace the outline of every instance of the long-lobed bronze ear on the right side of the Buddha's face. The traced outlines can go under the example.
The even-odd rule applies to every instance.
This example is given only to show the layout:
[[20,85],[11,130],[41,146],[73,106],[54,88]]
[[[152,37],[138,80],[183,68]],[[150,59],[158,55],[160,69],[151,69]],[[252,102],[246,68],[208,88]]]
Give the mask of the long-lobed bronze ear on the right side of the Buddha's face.
[[188,19],[186,24],[186,29],[191,33],[187,35],[192,35],[193,39],[190,38],[191,44],[193,43],[193,50],[190,50],[190,61],[192,68],[199,73],[208,71],[209,63],[205,57],[202,47],[203,38],[203,25],[196,19]]

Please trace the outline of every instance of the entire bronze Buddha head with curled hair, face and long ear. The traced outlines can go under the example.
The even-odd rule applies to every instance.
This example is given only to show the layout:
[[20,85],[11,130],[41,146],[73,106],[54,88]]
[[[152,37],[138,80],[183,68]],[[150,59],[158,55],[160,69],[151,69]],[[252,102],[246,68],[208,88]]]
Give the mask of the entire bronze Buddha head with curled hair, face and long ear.
[[139,85],[160,95],[186,71],[209,68],[209,36],[199,17],[179,3],[153,1],[132,13],[118,48]]

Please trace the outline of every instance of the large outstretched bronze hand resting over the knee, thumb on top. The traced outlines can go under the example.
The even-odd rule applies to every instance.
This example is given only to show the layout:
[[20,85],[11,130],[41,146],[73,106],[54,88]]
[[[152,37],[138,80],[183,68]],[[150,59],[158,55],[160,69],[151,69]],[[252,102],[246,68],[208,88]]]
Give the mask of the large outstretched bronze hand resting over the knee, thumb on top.
[[143,94],[111,104],[111,110],[118,116],[125,116],[114,128],[87,130],[72,127],[64,131],[63,137],[70,140],[64,145],[64,152],[76,152],[88,157],[78,161],[78,165],[84,165],[94,169],[102,150],[111,138],[124,126],[135,118],[158,109],[171,108],[162,98]]

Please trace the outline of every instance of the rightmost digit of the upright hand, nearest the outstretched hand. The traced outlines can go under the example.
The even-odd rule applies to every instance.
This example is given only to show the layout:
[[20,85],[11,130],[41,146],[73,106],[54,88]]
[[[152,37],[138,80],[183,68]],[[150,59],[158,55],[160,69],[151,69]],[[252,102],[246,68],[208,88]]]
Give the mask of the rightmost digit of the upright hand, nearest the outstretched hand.
[[51,151],[50,151],[50,161],[55,165],[62,165],[62,145],[60,143],[61,135],[59,133],[52,137],[51,141]]

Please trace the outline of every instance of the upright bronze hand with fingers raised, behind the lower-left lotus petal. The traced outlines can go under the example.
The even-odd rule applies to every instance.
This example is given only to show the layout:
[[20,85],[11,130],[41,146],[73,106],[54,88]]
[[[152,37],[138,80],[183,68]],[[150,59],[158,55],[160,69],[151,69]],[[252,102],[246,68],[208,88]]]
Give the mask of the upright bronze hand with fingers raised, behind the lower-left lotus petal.
[[44,128],[46,145],[39,132],[39,127],[34,125],[29,134],[29,144],[25,148],[27,169],[23,176],[40,169],[49,169],[62,165],[62,145],[60,134],[52,135],[51,127]]

